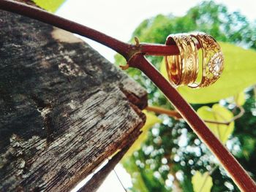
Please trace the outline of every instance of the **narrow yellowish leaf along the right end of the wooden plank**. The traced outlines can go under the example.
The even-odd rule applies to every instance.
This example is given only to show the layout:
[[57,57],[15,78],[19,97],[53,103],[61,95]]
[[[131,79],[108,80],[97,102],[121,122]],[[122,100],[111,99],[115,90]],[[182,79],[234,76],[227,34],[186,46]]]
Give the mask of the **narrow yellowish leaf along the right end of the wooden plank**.
[[141,144],[146,140],[146,138],[148,137],[148,129],[151,128],[152,126],[154,126],[154,124],[156,123],[161,123],[162,120],[160,120],[159,118],[157,118],[156,115],[154,115],[154,113],[152,112],[147,112],[146,110],[143,110],[143,112],[146,115],[146,123],[143,126],[143,128],[141,128],[142,133],[140,134],[140,136],[138,137],[138,139],[134,142],[134,144],[129,148],[129,150],[127,151],[127,153],[125,154],[126,157],[132,155],[136,150],[140,149]]

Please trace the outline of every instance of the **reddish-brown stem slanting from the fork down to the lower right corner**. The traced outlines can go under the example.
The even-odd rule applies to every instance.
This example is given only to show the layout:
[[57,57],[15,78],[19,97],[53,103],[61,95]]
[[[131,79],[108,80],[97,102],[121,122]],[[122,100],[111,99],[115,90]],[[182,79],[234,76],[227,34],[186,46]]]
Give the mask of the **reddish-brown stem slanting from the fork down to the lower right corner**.
[[157,85],[167,99],[171,101],[173,106],[176,107],[176,110],[181,114],[182,118],[184,118],[193,131],[195,131],[197,136],[203,140],[211,152],[219,159],[222,166],[224,166],[241,191],[256,191],[255,182],[249,177],[249,174],[246,173],[238,161],[236,161],[236,158],[234,158],[219,139],[214,136],[203,120],[198,117],[195,110],[193,110],[178,91],[170,85],[170,82],[167,82],[165,77],[162,77],[162,74],[160,74],[142,54],[134,55],[129,61],[129,66],[140,69]]

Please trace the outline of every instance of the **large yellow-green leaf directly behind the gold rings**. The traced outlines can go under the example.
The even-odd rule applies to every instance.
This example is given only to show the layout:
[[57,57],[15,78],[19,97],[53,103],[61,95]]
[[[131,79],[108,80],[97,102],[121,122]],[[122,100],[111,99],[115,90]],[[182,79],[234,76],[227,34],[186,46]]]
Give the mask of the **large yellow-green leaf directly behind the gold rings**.
[[256,52],[228,43],[220,43],[225,56],[224,71],[208,88],[180,87],[178,91],[189,103],[205,104],[225,99],[244,91],[256,82]]

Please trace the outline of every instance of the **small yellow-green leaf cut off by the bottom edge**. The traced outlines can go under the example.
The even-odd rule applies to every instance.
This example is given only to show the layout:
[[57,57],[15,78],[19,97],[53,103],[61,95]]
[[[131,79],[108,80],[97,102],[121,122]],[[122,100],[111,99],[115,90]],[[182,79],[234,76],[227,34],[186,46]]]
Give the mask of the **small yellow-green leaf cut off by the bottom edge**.
[[213,185],[211,175],[208,172],[201,174],[198,171],[192,177],[192,184],[194,192],[210,192]]

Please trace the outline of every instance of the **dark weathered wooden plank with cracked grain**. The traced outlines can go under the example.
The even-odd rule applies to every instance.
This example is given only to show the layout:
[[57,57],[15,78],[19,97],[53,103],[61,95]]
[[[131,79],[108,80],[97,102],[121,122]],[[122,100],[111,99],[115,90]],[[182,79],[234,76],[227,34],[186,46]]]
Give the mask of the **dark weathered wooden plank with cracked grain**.
[[0,28],[0,191],[69,191],[138,137],[146,91],[67,31]]

